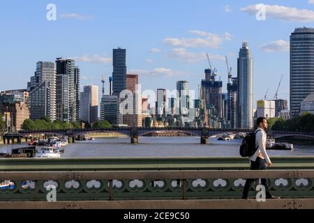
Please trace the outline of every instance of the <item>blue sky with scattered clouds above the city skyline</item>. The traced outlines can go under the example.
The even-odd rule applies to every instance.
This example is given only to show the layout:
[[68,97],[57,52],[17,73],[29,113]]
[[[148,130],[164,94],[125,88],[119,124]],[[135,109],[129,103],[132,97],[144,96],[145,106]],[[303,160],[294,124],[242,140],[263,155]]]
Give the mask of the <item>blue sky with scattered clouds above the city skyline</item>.
[[[57,20],[48,21],[48,3]],[[266,20],[255,17],[264,3]],[[226,89],[228,56],[234,77],[237,56],[248,41],[254,58],[254,98],[289,99],[289,38],[300,26],[314,27],[314,1],[104,0],[3,1],[0,13],[0,90],[23,89],[37,61],[73,58],[81,86],[101,86],[112,74],[112,48],[126,48],[128,73],[139,75],[142,89],[190,89],[204,78],[205,52]],[[106,91],[107,91],[106,84]],[[99,89],[100,93],[101,89]],[[254,107],[256,102],[254,102]]]

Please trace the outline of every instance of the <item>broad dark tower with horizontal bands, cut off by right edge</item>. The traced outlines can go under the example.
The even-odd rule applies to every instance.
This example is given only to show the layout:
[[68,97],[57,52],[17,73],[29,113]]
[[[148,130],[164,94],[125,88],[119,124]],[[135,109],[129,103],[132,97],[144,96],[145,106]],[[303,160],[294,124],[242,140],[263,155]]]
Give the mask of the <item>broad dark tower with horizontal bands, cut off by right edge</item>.
[[290,116],[314,93],[314,29],[298,28],[290,36]]

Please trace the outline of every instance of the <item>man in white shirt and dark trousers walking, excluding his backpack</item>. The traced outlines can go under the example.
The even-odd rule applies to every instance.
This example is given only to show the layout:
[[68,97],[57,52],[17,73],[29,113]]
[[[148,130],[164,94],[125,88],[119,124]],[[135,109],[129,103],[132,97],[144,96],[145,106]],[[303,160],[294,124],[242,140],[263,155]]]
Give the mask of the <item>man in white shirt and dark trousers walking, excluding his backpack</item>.
[[[257,170],[257,169],[267,169],[265,163],[267,163],[267,166],[271,166],[271,160],[269,159],[269,156],[266,153],[266,141],[267,141],[267,134],[265,130],[267,130],[267,119],[265,117],[257,118],[256,121],[257,124],[257,130],[255,130],[255,146],[257,148],[256,152],[248,157],[251,162],[251,170]],[[248,199],[248,191],[251,188],[251,185],[253,184],[255,179],[246,179],[246,185],[244,185],[243,190],[243,197],[242,199]],[[271,196],[267,184],[267,179],[261,179],[262,185],[264,185],[266,190],[266,198],[267,199],[279,199],[279,197]]]

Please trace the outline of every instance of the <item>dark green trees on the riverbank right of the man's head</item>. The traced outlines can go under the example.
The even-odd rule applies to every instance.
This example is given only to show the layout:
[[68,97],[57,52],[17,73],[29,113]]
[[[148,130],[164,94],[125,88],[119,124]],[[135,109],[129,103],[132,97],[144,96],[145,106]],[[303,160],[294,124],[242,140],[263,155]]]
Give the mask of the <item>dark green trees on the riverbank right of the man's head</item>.
[[279,118],[272,126],[271,130],[314,132],[314,115],[304,112],[301,116],[284,121]]

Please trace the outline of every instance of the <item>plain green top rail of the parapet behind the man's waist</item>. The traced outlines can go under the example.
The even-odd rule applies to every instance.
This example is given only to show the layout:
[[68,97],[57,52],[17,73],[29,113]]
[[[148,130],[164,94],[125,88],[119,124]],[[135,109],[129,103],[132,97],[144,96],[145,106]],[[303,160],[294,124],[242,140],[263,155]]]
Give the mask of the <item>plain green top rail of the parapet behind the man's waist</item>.
[[[314,169],[314,156],[271,157],[270,169]],[[0,171],[249,169],[243,157],[1,158]]]

